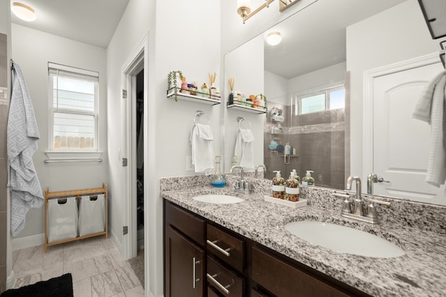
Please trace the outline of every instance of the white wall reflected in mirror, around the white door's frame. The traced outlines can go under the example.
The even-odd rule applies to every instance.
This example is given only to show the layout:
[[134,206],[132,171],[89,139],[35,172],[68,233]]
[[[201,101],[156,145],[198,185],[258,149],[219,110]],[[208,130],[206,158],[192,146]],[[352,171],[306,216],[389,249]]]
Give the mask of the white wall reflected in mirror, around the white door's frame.
[[417,1],[408,0],[349,26],[346,42],[346,67],[351,72],[351,174],[361,175],[363,72],[438,52],[440,40],[432,40]]

